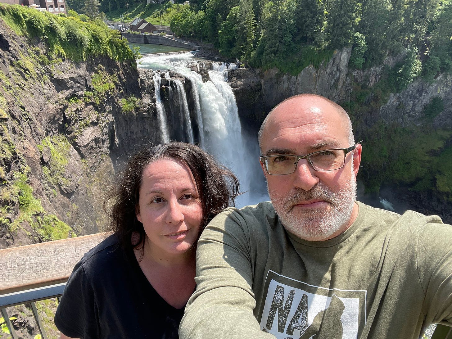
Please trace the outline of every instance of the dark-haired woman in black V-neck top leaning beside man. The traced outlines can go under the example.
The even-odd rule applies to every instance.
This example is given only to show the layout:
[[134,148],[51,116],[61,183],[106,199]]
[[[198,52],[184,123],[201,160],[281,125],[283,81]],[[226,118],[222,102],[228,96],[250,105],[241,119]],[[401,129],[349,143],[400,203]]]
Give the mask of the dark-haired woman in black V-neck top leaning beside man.
[[61,338],[178,338],[193,293],[199,231],[239,191],[199,147],[132,155],[109,192],[113,235],[75,265],[55,315]]

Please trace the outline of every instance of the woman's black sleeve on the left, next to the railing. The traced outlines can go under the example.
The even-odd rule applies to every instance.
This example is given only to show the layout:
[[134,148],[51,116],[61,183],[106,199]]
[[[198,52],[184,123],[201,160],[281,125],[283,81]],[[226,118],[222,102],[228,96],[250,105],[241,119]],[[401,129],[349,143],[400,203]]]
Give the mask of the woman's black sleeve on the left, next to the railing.
[[93,288],[80,261],[66,283],[55,314],[55,325],[71,338],[98,338],[98,312]]

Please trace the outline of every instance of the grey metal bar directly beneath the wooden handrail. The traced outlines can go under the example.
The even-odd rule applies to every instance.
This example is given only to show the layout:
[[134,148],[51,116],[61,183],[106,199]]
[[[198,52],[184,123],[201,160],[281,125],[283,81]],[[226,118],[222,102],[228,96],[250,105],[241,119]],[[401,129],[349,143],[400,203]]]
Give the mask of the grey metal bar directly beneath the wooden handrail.
[[0,295],[0,307],[16,306],[28,302],[59,297],[63,293],[65,286],[66,282],[62,282],[61,284]]

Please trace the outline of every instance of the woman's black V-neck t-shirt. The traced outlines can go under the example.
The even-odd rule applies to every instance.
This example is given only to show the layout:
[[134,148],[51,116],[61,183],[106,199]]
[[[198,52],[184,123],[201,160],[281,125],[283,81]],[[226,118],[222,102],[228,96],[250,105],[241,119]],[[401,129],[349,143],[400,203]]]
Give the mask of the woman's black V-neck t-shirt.
[[170,306],[146,279],[135,255],[110,235],[75,265],[55,314],[72,338],[177,339],[184,308]]

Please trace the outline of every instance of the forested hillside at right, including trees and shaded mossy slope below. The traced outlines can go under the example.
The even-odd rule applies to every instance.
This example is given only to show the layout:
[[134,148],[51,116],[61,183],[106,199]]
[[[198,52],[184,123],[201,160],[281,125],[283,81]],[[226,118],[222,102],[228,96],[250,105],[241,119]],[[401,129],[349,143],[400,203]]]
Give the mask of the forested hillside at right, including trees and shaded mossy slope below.
[[[397,184],[425,194],[423,200],[436,205],[437,198],[452,200],[452,132],[444,92],[437,89],[427,102],[416,98],[416,91],[419,95],[452,70],[448,0],[190,4],[174,5],[179,8],[171,19],[174,33],[193,38],[202,34],[224,56],[263,70],[276,67],[280,75],[297,75],[309,64],[318,68],[334,50],[351,46],[352,90],[340,104],[350,113],[357,137],[364,139],[361,177],[367,189]],[[385,111],[395,94],[397,102],[391,112]]]

